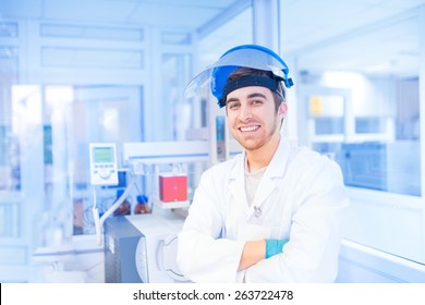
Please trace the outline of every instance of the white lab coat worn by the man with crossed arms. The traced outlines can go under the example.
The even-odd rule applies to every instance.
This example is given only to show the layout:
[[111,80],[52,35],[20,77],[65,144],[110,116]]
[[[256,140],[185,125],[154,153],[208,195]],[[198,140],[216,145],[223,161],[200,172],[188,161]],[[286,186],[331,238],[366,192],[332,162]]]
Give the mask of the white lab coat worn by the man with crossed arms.
[[[332,282],[348,204],[336,162],[281,138],[251,207],[243,154],[203,173],[178,264],[194,282]],[[290,241],[282,254],[238,271],[244,242],[260,239]]]

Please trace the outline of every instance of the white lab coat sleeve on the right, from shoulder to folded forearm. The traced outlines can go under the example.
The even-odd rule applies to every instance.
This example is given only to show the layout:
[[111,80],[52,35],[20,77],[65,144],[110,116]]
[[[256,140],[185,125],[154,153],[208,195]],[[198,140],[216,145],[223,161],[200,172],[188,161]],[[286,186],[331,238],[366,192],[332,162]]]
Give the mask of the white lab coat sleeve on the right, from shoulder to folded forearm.
[[339,166],[326,161],[304,174],[294,190],[299,206],[283,253],[245,273],[246,282],[333,282],[349,199]]

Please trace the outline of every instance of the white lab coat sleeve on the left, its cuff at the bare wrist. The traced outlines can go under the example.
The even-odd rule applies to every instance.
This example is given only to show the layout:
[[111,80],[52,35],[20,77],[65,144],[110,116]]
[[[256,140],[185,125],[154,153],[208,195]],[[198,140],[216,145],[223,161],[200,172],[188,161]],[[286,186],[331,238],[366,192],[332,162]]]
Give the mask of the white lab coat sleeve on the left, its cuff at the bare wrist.
[[222,193],[205,172],[179,234],[178,264],[194,282],[235,282],[244,243],[221,239]]

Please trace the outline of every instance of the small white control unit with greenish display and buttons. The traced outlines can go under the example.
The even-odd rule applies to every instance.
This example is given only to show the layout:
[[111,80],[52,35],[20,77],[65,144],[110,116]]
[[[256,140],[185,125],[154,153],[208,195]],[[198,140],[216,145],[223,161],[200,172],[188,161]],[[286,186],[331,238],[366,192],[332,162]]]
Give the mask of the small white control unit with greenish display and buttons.
[[93,185],[117,185],[117,146],[114,143],[90,143],[90,182]]

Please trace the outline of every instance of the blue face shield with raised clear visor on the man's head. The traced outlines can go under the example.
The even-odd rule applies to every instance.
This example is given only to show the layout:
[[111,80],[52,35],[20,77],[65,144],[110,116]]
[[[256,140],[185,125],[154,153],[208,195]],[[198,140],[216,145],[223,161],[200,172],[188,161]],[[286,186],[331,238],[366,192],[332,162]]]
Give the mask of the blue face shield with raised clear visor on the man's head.
[[221,100],[228,77],[241,66],[270,71],[275,80],[282,81],[287,88],[293,85],[292,78],[288,76],[288,65],[278,54],[262,46],[243,45],[230,49],[216,63],[196,75],[186,86],[184,96],[193,97],[204,86],[210,85],[211,94],[217,98],[218,105],[223,107]]

